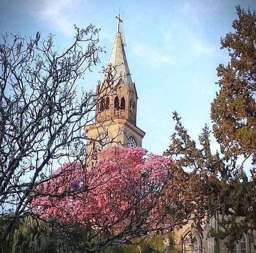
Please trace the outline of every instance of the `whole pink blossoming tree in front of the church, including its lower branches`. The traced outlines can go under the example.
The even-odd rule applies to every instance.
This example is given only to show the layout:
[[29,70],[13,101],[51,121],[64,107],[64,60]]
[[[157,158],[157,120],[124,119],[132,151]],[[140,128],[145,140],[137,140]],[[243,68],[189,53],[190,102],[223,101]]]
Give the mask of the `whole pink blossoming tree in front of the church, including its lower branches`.
[[40,218],[82,228],[79,246],[99,250],[187,222],[185,180],[170,158],[141,147],[110,147],[91,169],[81,163],[57,169],[37,186],[30,205]]

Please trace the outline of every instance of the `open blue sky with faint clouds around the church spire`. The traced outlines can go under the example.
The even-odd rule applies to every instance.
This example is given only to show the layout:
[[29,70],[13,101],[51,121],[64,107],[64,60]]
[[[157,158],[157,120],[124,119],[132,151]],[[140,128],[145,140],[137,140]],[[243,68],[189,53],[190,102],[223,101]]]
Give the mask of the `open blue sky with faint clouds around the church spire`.
[[195,139],[205,122],[211,125],[216,67],[228,61],[227,52],[220,50],[220,37],[231,31],[237,4],[256,9],[253,0],[2,0],[0,32],[34,36],[41,31],[43,37],[51,32],[62,49],[73,41],[74,24],[100,27],[106,54],[79,83],[95,89],[108,60],[120,6],[126,57],[139,95],[137,125],[146,132],[143,146],[162,154],[174,132],[174,110]]

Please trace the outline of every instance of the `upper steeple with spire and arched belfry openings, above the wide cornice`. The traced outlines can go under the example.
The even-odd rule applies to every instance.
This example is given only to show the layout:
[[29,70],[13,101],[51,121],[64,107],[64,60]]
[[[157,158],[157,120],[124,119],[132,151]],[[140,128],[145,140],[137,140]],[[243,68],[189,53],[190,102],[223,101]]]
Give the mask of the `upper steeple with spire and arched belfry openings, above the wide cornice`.
[[[117,30],[114,43],[106,73],[96,90],[99,100],[96,108],[96,120],[103,122],[107,119],[125,118],[136,125],[138,96],[124,51],[120,26],[122,20],[119,14],[115,17],[117,18]],[[109,75],[111,76],[110,80]]]

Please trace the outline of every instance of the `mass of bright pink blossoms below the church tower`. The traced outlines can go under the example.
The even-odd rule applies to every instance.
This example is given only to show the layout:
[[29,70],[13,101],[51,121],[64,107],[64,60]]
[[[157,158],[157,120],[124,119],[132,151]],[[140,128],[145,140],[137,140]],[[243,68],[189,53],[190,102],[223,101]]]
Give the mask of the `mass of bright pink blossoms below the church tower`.
[[59,218],[92,227],[122,229],[136,220],[161,215],[163,190],[172,179],[173,160],[148,154],[141,147],[110,147],[98,155],[96,166],[66,163],[39,185],[31,207],[42,218]]

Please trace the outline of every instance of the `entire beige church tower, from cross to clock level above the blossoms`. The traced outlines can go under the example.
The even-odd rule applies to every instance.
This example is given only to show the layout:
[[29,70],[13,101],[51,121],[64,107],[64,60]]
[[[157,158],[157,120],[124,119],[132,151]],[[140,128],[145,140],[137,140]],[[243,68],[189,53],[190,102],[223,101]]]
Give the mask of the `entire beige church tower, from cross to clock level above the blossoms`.
[[145,132],[136,125],[137,91],[124,52],[120,15],[102,83],[96,88],[95,122],[85,126],[87,153],[115,146],[142,146]]

